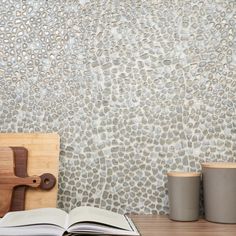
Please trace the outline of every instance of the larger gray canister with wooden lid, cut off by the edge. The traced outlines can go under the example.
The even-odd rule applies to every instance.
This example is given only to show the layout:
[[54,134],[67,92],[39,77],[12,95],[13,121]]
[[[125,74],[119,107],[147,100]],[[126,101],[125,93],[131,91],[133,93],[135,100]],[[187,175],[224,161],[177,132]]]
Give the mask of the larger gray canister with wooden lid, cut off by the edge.
[[203,163],[205,218],[236,223],[236,163]]

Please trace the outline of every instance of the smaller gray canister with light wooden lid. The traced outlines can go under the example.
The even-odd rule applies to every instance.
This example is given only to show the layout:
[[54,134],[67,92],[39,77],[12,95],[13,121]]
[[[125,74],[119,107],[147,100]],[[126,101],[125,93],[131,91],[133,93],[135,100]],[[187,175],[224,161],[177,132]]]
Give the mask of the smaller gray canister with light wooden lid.
[[170,172],[168,176],[169,218],[177,221],[195,221],[199,218],[201,174]]

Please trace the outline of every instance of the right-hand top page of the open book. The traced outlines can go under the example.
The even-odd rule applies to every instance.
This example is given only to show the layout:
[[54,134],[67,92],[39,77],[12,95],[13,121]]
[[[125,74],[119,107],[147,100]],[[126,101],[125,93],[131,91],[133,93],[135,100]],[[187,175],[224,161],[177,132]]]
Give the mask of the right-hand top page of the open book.
[[69,213],[68,228],[79,222],[93,222],[130,230],[128,221],[124,215],[95,207],[77,207]]

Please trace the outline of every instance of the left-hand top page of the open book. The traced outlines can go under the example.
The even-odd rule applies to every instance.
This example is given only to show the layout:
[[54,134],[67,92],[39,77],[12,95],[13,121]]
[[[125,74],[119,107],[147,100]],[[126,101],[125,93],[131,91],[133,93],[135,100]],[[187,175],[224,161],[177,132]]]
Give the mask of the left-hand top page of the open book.
[[56,208],[40,208],[28,211],[8,212],[1,220],[0,227],[53,224],[65,228],[68,214]]

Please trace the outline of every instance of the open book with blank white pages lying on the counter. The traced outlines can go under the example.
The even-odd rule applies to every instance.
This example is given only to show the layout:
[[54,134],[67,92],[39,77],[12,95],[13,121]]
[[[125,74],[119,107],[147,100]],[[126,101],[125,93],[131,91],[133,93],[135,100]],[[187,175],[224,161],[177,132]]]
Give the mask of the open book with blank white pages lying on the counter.
[[57,208],[7,213],[0,219],[1,236],[140,235],[131,219],[95,207],[77,207],[69,214]]

